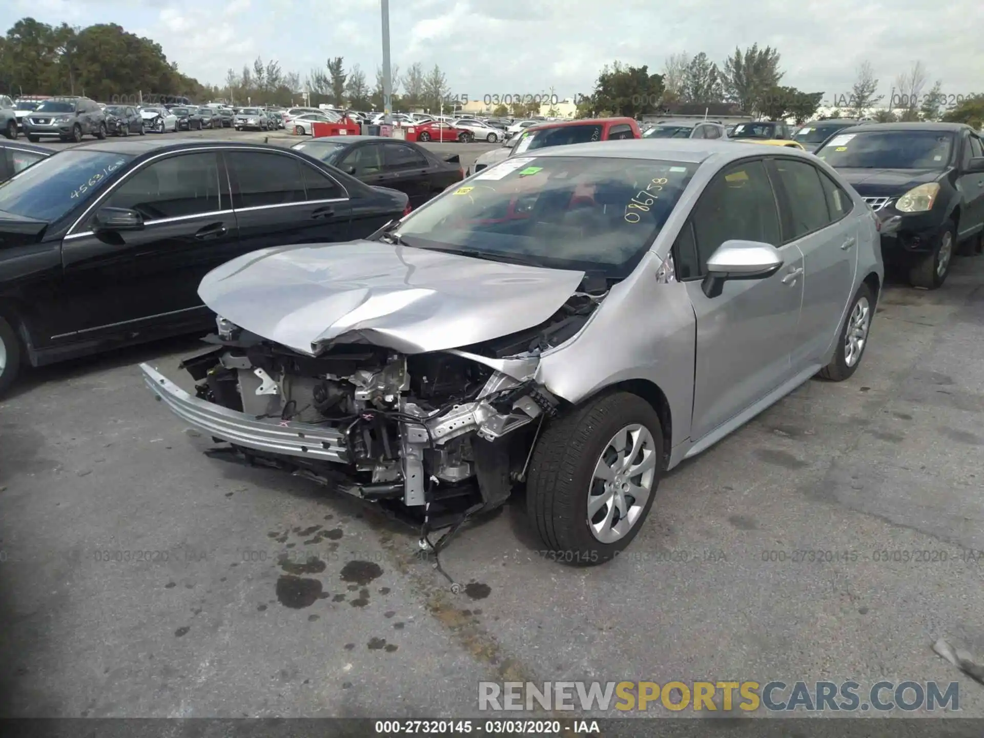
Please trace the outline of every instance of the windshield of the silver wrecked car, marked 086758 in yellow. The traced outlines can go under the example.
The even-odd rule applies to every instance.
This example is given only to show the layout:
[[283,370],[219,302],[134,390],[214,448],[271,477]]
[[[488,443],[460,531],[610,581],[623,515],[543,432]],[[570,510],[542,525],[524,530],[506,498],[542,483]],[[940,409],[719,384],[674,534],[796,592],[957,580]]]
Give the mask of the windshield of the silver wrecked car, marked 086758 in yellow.
[[596,156],[518,156],[407,216],[407,246],[627,277],[697,164]]

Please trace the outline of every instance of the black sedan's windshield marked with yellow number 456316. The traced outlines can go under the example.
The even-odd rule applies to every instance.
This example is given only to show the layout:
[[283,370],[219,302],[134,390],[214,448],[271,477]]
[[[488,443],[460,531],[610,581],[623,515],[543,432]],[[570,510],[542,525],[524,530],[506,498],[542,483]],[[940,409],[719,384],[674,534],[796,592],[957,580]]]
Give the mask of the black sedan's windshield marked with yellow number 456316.
[[89,199],[133,156],[67,150],[0,184],[0,211],[53,222]]

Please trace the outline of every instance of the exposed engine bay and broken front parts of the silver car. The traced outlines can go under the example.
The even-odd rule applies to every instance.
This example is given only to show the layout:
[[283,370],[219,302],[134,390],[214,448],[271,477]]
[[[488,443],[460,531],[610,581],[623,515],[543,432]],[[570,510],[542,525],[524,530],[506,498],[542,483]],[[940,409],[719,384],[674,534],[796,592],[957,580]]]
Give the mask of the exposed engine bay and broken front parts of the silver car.
[[[460,349],[402,354],[353,334],[312,356],[218,318],[206,338],[215,347],[181,366],[199,400],[277,421],[294,439],[338,431],[338,448],[313,440],[280,453],[216,432],[225,451],[436,529],[499,507],[523,480],[540,423],[560,405],[533,379],[538,356],[575,336],[604,298],[607,284],[590,281],[544,324]],[[317,443],[333,447],[330,459]]]

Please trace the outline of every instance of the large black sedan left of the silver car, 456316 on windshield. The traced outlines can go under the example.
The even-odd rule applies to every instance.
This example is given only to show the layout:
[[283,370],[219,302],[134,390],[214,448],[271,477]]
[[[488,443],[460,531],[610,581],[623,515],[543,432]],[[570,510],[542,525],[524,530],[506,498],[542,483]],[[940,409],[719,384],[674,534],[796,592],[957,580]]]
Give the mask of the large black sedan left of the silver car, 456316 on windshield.
[[198,285],[229,259],[364,238],[408,212],[400,192],[272,145],[59,152],[0,185],[0,392],[23,363],[214,328]]

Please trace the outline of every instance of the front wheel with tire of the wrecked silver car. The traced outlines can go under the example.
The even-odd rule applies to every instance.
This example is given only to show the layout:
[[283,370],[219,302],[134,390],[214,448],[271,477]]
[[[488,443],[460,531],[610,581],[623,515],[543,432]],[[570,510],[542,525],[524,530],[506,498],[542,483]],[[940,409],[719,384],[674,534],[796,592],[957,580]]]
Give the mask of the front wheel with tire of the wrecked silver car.
[[636,537],[662,472],[662,426],[646,400],[625,392],[589,400],[545,427],[526,512],[557,559],[601,564]]

